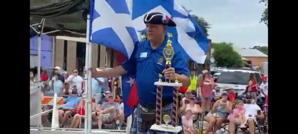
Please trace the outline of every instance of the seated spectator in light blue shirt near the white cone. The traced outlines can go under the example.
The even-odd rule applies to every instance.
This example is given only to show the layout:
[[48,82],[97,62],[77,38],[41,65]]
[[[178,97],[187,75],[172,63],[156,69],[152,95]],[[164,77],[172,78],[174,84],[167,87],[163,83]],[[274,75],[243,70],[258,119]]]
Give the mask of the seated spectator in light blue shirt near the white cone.
[[61,123],[61,128],[63,128],[65,121],[67,121],[70,116],[74,116],[75,114],[75,106],[78,105],[80,97],[77,97],[76,88],[72,89],[71,96],[67,97],[63,100],[63,105],[59,112],[59,121]]

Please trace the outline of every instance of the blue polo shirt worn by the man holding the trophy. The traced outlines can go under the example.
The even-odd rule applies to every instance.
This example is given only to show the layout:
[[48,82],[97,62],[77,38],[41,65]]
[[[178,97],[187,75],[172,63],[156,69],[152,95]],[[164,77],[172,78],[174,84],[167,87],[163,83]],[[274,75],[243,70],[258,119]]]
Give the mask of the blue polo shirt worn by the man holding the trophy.
[[[148,40],[138,42],[131,58],[122,67],[129,73],[136,73],[136,84],[140,103],[142,105],[155,105],[156,86],[154,82],[158,81],[158,73],[165,68],[163,58],[163,48],[168,38],[165,36],[162,44],[152,49]],[[172,45],[176,45],[173,44]],[[189,70],[182,52],[174,49],[174,56],[171,61],[171,67],[175,68],[178,74],[184,74],[189,77]],[[162,81],[164,77],[162,77]],[[162,100],[172,101],[173,87],[164,86],[162,88]]]

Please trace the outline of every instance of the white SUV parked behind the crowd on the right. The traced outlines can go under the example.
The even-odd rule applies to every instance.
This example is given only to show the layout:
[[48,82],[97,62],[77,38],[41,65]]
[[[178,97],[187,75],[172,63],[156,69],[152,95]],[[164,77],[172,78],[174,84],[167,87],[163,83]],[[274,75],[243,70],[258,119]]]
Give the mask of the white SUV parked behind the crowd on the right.
[[261,84],[262,73],[252,70],[243,70],[243,69],[225,69],[219,75],[219,78],[216,79],[218,86],[217,89],[221,91],[225,87],[232,87],[235,93],[241,94],[244,92],[246,86],[248,85],[249,75],[253,74],[258,85]]

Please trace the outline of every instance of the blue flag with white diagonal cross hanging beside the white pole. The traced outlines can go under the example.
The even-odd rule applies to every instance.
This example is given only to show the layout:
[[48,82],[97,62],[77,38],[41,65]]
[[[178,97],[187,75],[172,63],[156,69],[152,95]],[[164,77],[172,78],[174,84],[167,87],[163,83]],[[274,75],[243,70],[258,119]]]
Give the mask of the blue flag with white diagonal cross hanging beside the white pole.
[[90,42],[112,48],[129,59],[138,36],[125,0],[90,0]]

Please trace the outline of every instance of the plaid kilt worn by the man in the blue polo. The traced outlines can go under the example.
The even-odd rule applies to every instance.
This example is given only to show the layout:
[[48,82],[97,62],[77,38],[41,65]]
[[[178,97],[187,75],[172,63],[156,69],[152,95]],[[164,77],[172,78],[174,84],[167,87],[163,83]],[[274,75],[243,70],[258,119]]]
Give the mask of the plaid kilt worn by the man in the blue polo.
[[[172,111],[172,104],[163,107],[162,108],[162,113],[163,113],[162,116],[164,114],[171,116],[172,115],[171,111]],[[134,122],[132,125],[131,134],[173,134],[170,132],[150,130],[150,128],[147,131],[144,131],[143,130],[143,121],[141,119],[141,112],[142,112],[142,108],[141,108],[140,104],[138,104],[138,107],[135,110],[135,117],[134,117]]]

